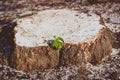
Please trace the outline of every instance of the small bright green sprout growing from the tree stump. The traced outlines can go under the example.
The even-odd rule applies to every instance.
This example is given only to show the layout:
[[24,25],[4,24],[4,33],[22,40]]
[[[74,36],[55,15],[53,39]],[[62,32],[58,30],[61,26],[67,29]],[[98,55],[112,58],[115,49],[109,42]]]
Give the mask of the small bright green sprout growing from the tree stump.
[[56,36],[53,36],[53,37],[54,37],[54,40],[51,42],[51,47],[55,49],[61,49],[64,43],[63,38],[56,37]]

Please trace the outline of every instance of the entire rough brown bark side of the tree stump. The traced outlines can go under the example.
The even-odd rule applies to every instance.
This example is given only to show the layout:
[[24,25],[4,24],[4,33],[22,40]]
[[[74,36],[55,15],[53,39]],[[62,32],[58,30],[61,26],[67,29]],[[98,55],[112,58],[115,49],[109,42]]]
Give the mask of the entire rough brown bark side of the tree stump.
[[10,66],[18,70],[34,72],[57,66],[81,65],[82,63],[100,63],[111,53],[109,30],[100,30],[95,39],[79,44],[65,43],[61,50],[49,46],[21,47],[16,45]]

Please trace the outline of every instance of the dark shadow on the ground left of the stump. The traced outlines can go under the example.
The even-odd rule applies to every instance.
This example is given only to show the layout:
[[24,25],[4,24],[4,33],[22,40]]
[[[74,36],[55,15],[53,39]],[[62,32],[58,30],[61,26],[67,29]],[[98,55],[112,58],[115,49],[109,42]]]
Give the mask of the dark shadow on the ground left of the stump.
[[10,56],[14,51],[14,27],[12,20],[1,20],[0,26],[0,63],[9,65]]

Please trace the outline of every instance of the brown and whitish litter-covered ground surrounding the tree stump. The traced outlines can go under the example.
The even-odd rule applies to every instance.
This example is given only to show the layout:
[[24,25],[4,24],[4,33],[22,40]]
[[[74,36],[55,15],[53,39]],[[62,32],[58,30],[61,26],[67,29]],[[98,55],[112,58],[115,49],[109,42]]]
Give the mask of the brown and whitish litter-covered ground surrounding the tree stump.
[[[0,65],[1,80],[15,79],[40,79],[40,80],[120,80],[120,3],[119,1],[108,1],[100,3],[89,3],[81,1],[56,0],[40,3],[29,0],[0,1],[0,53],[9,56],[13,51],[13,28],[15,19],[32,15],[39,10],[49,8],[72,8],[79,9],[84,13],[101,14],[105,25],[113,34],[113,52],[109,58],[101,64],[84,64],[80,66],[59,67],[51,70],[40,70],[37,74],[17,71],[4,63]],[[1,55],[0,54],[0,55]],[[1,58],[1,57],[0,57]],[[7,65],[7,63],[5,63]]]

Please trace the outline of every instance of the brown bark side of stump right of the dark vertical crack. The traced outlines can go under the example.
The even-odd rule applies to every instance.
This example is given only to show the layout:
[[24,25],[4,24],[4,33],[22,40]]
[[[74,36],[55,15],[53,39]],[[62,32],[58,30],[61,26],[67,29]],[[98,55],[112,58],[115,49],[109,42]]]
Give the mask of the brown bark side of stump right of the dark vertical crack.
[[66,44],[61,50],[62,65],[80,65],[81,63],[100,63],[102,58],[112,51],[110,35],[107,28],[100,31],[94,40],[76,44]]

